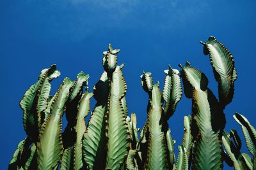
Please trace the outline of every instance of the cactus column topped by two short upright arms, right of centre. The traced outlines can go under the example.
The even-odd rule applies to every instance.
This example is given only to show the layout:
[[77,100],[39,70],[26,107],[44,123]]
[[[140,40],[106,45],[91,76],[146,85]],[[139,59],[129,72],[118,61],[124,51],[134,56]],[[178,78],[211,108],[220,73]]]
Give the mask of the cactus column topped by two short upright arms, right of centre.
[[[141,132],[139,145],[143,162],[143,169],[173,169],[175,162],[174,147],[167,120],[173,115],[177,103],[182,96],[179,71],[169,67],[165,70],[166,78],[163,93],[159,89],[159,82],[153,84],[152,74],[141,75],[141,85],[148,93],[147,122]],[[145,145],[147,143],[147,145]]]

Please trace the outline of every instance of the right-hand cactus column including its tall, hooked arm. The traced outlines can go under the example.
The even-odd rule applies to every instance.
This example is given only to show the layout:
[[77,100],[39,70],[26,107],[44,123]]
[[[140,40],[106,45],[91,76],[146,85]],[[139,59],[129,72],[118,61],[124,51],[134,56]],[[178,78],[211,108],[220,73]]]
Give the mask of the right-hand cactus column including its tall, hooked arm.
[[208,89],[204,73],[189,62],[184,67],[180,65],[185,95],[192,99],[192,124],[197,127],[192,132],[195,139],[192,168],[222,169],[221,136],[226,123],[223,110],[232,101],[237,73],[233,56],[216,38],[211,36],[200,43],[204,45],[204,54],[210,55],[219,99]]

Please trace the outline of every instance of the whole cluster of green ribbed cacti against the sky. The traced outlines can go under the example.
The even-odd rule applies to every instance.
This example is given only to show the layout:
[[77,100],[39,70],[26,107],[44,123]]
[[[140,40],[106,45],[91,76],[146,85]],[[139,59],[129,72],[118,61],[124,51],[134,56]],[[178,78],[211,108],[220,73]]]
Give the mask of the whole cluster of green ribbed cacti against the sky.
[[[189,62],[179,65],[181,71],[171,66],[164,71],[163,91],[159,82],[153,83],[152,74],[143,71],[141,85],[148,94],[148,105],[141,131],[136,114],[128,115],[124,64],[117,65],[120,50],[109,45],[103,53],[104,72],[93,93],[88,88],[89,75],[81,72],[75,81],[65,78],[50,96],[50,82],[60,72],[56,65],[43,69],[20,101],[27,137],[19,143],[8,168],[222,169],[225,160],[235,169],[256,169],[256,131],[250,122],[239,113],[234,115],[253,157],[240,152],[241,140],[235,130],[224,131],[224,110],[232,101],[237,78],[234,59],[212,36],[202,45],[218,82],[218,99],[208,88],[205,74]],[[175,160],[168,120],[182,97],[180,78],[192,109],[191,115],[184,117],[184,137]],[[86,125],[92,97],[97,103]],[[62,132],[63,114],[68,123]]]

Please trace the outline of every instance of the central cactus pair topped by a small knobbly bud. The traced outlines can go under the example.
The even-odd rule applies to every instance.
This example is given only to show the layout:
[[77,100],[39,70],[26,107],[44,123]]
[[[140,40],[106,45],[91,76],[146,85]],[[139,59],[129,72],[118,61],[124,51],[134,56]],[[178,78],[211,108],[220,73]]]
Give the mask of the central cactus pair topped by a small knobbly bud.
[[120,169],[128,154],[127,86],[122,73],[124,64],[117,66],[118,52],[109,44],[108,52],[103,53],[105,71],[94,87],[97,104],[83,139],[88,169]]

